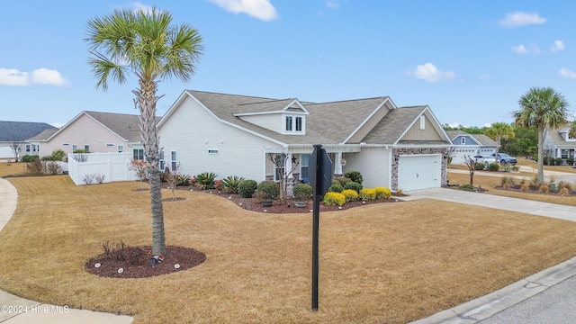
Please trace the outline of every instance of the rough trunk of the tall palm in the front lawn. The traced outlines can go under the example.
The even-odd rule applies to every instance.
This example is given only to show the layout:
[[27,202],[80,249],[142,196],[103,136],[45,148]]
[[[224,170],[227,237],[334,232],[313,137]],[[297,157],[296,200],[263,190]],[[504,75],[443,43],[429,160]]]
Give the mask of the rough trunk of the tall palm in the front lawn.
[[153,81],[139,80],[140,89],[133,93],[138,97],[140,109],[140,135],[150,176],[150,207],[152,210],[152,253],[166,254],[164,231],[164,211],[162,207],[162,188],[158,169],[159,139],[156,127],[157,85]]

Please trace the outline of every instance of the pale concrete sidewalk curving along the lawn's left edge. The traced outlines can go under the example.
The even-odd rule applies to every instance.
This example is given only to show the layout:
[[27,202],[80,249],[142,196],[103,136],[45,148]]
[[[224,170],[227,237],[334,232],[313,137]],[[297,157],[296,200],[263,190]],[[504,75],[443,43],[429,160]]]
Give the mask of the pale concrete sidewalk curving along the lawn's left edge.
[[[14,185],[0,178],[0,230],[12,217],[17,202],[18,192]],[[33,302],[0,290],[0,323],[2,324],[130,324],[133,320],[131,316],[75,310],[67,305]]]

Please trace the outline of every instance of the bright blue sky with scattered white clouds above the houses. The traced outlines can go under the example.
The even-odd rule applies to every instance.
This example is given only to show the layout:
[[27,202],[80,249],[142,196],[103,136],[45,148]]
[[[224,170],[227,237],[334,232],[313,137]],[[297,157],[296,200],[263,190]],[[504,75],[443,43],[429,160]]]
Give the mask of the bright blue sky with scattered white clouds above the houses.
[[572,1],[23,0],[2,4],[0,120],[138,113],[134,77],[94,88],[83,39],[89,19],[154,5],[204,46],[191,82],[159,84],[160,116],[184,89],[310,102],[388,95],[467,127],[511,122],[533,86],[576,106]]

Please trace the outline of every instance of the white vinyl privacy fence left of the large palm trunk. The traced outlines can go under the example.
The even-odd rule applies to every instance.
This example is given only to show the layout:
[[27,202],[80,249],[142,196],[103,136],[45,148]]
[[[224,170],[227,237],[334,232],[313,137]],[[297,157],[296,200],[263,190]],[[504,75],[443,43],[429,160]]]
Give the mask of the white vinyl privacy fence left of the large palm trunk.
[[138,180],[131,160],[131,152],[68,153],[68,175],[76,185]]

